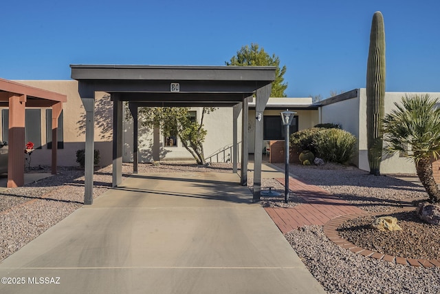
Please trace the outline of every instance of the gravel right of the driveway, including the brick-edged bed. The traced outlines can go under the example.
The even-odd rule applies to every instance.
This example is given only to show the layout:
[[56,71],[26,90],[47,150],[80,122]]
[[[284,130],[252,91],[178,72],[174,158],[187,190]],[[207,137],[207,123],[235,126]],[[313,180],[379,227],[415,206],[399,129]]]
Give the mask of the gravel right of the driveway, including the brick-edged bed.
[[[340,165],[290,165],[290,172],[361,209],[395,216],[404,229],[390,238],[389,234],[362,227],[373,218],[349,220],[342,224],[341,230],[344,238],[353,240],[354,244],[373,251],[382,249],[384,253],[388,250],[388,254],[439,258],[438,229],[412,221],[411,212],[392,213],[401,209],[399,200],[427,198],[422,187]],[[320,226],[290,231],[285,238],[328,293],[440,293],[440,268],[417,268],[364,258],[329,241]]]

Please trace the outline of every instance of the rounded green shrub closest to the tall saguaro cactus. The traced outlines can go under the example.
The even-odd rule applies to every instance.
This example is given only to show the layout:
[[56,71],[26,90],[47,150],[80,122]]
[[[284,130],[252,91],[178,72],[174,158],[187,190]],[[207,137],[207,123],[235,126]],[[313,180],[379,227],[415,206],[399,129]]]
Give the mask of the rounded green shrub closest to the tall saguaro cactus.
[[355,143],[355,136],[343,129],[320,129],[314,136],[320,158],[342,164],[353,156]]

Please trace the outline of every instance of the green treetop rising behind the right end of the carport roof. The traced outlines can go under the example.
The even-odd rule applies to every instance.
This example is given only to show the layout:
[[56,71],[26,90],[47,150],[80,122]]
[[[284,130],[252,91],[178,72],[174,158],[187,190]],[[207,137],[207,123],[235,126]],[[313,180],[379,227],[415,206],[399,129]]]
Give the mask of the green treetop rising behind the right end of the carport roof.
[[280,67],[280,59],[275,54],[270,56],[265,52],[263,48],[259,48],[258,44],[251,43],[241,47],[236,52],[236,56],[233,56],[230,61],[225,62],[226,65],[239,65],[239,66],[275,66],[275,81],[272,82],[271,97],[287,97],[285,90],[287,89],[287,83],[283,83],[284,74],[287,70],[286,66]]

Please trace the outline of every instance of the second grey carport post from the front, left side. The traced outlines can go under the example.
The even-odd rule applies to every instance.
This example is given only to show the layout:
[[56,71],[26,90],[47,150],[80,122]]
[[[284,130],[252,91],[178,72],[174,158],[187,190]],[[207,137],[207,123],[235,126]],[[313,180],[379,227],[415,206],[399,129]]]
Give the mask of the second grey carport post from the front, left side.
[[113,100],[113,180],[112,186],[122,182],[122,101],[118,94],[111,94]]

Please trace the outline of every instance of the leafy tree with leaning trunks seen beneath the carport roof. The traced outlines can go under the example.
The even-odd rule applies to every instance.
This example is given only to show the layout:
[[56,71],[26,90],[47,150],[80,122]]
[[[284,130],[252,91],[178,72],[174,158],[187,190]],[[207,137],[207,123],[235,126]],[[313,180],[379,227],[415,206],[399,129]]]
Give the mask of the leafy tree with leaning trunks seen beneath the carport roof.
[[208,132],[203,128],[203,118],[214,107],[203,107],[200,123],[190,117],[189,107],[141,107],[140,123],[146,127],[158,127],[164,136],[177,136],[199,165],[205,165],[203,142]]

